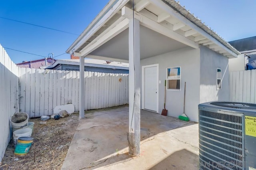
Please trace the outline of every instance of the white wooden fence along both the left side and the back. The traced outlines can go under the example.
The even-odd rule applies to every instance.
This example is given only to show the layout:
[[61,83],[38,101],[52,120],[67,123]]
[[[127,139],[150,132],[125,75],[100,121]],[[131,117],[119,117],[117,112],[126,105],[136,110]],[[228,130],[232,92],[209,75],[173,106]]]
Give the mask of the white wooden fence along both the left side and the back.
[[[128,103],[128,74],[85,72],[85,109]],[[57,105],[79,104],[79,71],[17,67],[0,45],[0,162],[12,136],[9,118],[17,112],[30,117],[52,115]]]

